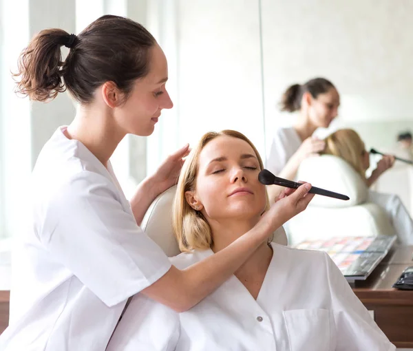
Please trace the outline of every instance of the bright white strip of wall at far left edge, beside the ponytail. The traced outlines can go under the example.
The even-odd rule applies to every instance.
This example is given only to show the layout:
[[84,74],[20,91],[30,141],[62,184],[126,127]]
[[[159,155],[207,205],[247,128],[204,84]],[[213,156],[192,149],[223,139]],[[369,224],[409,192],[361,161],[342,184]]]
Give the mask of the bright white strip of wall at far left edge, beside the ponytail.
[[[19,21],[12,14],[19,14]],[[22,43],[28,41],[28,1],[0,2],[0,239],[22,228],[24,185],[31,171],[31,121],[28,100],[18,99],[15,72]]]

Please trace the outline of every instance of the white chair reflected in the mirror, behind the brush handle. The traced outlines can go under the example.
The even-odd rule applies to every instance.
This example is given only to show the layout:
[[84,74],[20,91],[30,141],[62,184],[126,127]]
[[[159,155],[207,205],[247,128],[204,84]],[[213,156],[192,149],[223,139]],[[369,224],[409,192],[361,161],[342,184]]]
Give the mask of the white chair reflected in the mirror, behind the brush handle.
[[288,221],[288,244],[295,245],[306,239],[395,234],[383,209],[367,202],[365,182],[345,160],[330,155],[308,158],[301,162],[297,180],[343,193],[350,200],[315,195],[305,211]]

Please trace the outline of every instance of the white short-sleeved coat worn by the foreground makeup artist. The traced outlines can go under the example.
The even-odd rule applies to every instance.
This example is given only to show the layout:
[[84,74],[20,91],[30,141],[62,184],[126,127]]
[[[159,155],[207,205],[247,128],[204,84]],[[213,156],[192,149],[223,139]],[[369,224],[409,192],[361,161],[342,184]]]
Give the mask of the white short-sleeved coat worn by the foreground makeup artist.
[[2,351],[105,350],[128,297],[171,267],[136,224],[110,164],[63,130],[34,167]]

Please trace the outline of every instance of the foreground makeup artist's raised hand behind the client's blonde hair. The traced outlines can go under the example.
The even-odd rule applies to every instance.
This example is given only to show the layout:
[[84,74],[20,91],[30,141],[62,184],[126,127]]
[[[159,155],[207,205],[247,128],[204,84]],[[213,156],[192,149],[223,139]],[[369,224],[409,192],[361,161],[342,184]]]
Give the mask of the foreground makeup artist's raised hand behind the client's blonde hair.
[[153,184],[153,191],[156,195],[164,192],[178,182],[182,164],[184,164],[184,157],[188,156],[189,144],[185,145],[178,151],[175,151],[162,162],[156,173],[151,177]]

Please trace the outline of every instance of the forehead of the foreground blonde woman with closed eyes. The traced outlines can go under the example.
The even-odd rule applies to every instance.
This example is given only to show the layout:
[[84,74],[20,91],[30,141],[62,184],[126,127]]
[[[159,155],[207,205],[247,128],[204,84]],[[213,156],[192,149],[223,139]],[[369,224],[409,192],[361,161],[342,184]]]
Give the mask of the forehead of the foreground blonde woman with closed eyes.
[[255,152],[245,140],[232,136],[218,136],[211,140],[200,152],[199,166],[203,167],[214,158],[226,157],[229,160],[238,160],[241,155]]

